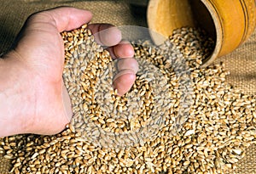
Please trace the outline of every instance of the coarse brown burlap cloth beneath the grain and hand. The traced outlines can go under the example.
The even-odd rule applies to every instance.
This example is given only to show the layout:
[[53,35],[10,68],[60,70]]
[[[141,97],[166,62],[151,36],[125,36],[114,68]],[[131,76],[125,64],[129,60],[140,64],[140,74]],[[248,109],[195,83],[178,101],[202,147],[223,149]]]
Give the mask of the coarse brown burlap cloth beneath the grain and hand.
[[[70,1],[70,0],[0,0],[0,53],[6,52],[29,14],[57,6],[73,6],[89,9],[94,18],[92,23],[104,22],[113,25],[146,25],[145,14],[131,8],[129,3],[119,1]],[[136,12],[136,13],[132,13]],[[243,93],[256,94],[256,31],[247,42],[216,62],[223,61],[230,70],[227,81]],[[256,173],[256,146],[247,149],[246,157],[239,161],[236,170],[226,173]],[[0,156],[0,173],[8,173],[9,160]]]

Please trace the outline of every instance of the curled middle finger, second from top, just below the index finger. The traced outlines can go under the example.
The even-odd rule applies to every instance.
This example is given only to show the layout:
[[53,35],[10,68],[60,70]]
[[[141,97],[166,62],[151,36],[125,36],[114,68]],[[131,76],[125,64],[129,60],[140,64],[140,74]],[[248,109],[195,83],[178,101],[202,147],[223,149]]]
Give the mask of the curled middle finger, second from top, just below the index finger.
[[134,56],[134,49],[131,43],[127,41],[121,41],[119,44],[108,48],[108,52],[113,59],[132,58]]

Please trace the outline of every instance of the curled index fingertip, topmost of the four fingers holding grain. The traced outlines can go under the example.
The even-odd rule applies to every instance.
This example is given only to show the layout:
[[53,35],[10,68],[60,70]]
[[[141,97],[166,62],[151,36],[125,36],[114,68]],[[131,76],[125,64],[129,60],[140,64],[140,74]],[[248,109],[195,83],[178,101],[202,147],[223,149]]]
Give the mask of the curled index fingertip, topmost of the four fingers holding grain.
[[96,42],[107,47],[117,45],[121,39],[121,31],[110,24],[92,24],[88,28],[95,36]]

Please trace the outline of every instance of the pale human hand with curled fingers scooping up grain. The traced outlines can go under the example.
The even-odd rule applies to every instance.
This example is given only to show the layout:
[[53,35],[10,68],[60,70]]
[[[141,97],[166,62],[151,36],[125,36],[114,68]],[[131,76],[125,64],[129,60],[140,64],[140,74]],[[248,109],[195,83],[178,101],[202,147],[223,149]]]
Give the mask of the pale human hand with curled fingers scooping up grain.
[[[55,134],[72,118],[62,71],[64,47],[61,31],[90,22],[92,14],[78,8],[54,8],[33,14],[20,31],[15,48],[0,59],[0,137],[20,134]],[[89,25],[115,59],[121,59],[113,88],[127,93],[136,79],[137,61],[129,42],[121,42],[113,25]],[[128,59],[127,59],[128,58]]]

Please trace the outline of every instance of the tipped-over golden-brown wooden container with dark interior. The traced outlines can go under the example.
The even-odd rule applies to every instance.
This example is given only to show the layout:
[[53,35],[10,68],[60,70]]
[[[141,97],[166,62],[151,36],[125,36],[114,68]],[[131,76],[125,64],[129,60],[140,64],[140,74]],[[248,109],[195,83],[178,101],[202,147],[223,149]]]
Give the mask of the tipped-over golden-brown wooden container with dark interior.
[[[207,66],[251,36],[255,6],[255,0],[149,0],[148,28],[167,38],[183,26],[201,27],[216,42],[212,54],[203,61]],[[161,43],[154,35],[152,39]]]

